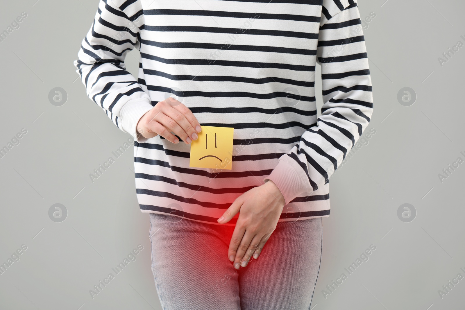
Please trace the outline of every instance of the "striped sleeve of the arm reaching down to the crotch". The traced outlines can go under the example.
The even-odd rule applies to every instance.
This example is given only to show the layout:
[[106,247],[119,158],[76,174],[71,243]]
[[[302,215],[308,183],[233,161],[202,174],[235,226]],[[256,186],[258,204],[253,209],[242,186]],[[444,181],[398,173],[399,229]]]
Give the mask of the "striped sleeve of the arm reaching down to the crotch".
[[372,116],[372,84],[356,0],[323,1],[317,60],[323,89],[317,125],[264,178],[278,186],[286,204],[329,182]]

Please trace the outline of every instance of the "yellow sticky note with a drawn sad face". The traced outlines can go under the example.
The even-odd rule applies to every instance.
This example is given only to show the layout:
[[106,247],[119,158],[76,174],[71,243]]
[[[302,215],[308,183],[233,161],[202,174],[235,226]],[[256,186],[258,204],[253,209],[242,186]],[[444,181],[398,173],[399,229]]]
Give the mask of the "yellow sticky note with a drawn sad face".
[[191,142],[190,167],[232,169],[233,127],[201,126],[199,138]]

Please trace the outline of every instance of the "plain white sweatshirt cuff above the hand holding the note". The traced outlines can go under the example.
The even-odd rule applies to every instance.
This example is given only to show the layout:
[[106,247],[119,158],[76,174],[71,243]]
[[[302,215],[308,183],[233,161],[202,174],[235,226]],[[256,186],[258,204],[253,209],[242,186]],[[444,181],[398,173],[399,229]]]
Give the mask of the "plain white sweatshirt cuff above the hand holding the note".
[[153,106],[149,99],[139,98],[127,101],[120,109],[123,131],[131,134],[134,140],[139,143],[143,143],[148,139],[137,132],[137,123],[152,108]]

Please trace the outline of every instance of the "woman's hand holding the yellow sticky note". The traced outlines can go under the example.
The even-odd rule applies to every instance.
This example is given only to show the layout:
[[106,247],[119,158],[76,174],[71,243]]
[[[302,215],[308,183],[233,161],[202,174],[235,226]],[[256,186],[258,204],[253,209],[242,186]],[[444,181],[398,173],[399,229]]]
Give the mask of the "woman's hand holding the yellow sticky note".
[[137,132],[144,138],[160,135],[173,143],[179,140],[171,132],[189,144],[199,138],[196,131],[202,131],[199,121],[187,106],[172,97],[157,102],[137,123]]

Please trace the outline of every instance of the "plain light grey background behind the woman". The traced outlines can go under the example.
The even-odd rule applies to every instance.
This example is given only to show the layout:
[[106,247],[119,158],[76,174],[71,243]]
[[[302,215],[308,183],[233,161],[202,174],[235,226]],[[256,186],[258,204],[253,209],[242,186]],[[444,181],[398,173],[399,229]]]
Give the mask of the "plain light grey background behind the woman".
[[[133,147],[89,178],[130,137],[86,97],[73,67],[98,0],[36,1],[9,1],[0,11],[0,31],[27,13],[0,42],[0,148],[27,130],[0,158],[0,264],[27,246],[0,275],[0,308],[161,309]],[[464,9],[458,0],[359,0],[362,19],[376,14],[364,29],[374,96],[365,132],[376,133],[331,178],[312,309],[463,309],[465,280],[443,298],[438,290],[465,276],[465,163],[443,182],[438,174],[465,159],[465,47],[443,66],[438,58],[465,43]],[[137,51],[126,57],[133,74],[138,59]],[[48,100],[54,87],[67,93],[63,106]],[[397,99],[404,87],[417,95],[411,106]],[[56,203],[68,212],[60,223],[48,215]],[[417,211],[412,222],[398,218],[404,203]],[[93,285],[138,244],[137,259],[92,298]],[[369,260],[348,275],[344,268],[371,244]],[[322,290],[343,272],[347,278],[325,297]]]

